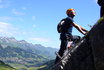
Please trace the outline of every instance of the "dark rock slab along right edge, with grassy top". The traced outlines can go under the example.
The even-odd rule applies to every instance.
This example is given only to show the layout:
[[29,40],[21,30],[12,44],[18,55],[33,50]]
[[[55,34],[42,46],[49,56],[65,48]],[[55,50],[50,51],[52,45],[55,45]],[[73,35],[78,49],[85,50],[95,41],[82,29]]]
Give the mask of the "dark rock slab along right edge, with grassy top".
[[104,70],[104,17],[96,24],[89,34],[96,70]]

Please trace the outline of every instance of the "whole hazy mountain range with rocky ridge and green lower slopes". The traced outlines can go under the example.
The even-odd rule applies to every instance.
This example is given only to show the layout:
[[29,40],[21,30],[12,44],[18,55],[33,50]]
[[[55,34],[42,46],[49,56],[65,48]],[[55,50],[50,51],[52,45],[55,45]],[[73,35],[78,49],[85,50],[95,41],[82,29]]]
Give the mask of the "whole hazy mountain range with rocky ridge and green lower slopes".
[[14,37],[0,37],[0,60],[19,70],[39,67],[55,59],[55,51],[56,48],[16,40]]

